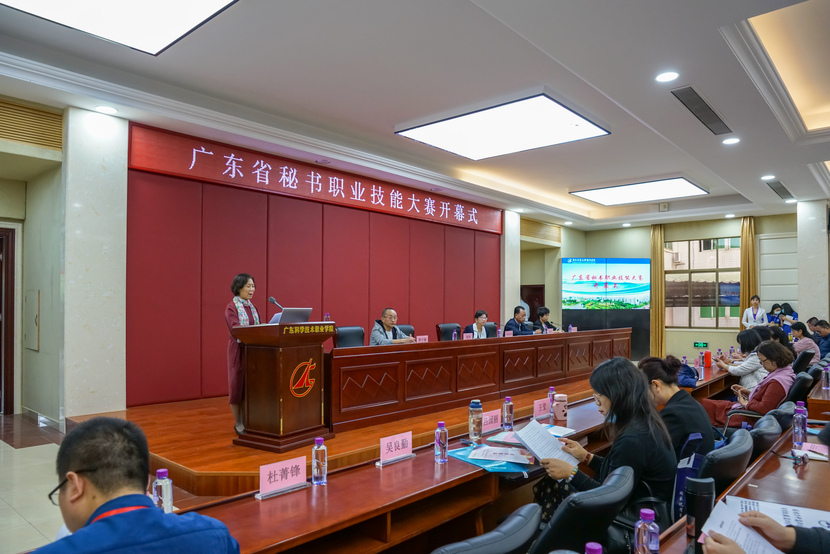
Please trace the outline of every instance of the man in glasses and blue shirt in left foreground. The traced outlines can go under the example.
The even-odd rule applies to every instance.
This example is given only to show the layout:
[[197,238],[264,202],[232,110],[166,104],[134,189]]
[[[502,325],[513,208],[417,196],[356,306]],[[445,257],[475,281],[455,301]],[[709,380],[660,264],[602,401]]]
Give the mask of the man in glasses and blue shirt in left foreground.
[[49,493],[73,534],[38,553],[238,553],[225,525],[189,513],[165,514],[147,497],[150,451],[132,422],[96,417],[64,437],[58,450],[60,483]]

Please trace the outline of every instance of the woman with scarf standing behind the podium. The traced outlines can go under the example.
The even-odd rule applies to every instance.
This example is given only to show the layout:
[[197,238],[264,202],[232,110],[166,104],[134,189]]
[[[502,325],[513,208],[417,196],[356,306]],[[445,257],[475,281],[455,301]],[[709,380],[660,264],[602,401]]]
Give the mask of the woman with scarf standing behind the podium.
[[[240,273],[233,278],[231,292],[233,300],[225,308],[225,322],[228,331],[235,325],[259,325],[259,314],[251,302],[254,297],[254,278],[247,273]],[[242,348],[233,335],[228,342],[228,395],[233,413],[233,429],[237,435],[245,430],[242,422],[242,397],[245,394],[245,372],[242,369]]]

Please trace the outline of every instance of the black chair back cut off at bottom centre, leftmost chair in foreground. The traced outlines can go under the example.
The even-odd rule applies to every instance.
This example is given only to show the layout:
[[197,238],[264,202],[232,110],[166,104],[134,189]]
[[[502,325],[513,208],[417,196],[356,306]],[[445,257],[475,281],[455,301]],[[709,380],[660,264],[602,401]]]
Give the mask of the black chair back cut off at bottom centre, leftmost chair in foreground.
[[542,507],[525,504],[489,533],[442,546],[433,550],[432,554],[524,554],[539,531],[540,521]]

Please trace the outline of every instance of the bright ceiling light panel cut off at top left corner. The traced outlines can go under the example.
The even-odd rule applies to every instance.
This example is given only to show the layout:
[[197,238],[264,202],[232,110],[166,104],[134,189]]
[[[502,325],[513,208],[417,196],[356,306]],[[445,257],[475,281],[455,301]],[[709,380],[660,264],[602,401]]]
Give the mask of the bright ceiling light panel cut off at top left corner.
[[3,0],[0,4],[155,56],[236,1]]

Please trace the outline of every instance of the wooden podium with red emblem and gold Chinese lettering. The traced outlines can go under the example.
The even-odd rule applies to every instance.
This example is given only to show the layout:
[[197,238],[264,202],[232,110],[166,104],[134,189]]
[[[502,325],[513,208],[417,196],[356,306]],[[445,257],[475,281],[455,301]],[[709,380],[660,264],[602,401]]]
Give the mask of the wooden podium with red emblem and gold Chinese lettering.
[[245,432],[238,446],[287,452],[331,438],[323,342],[334,322],[248,325],[231,329],[242,343]]

